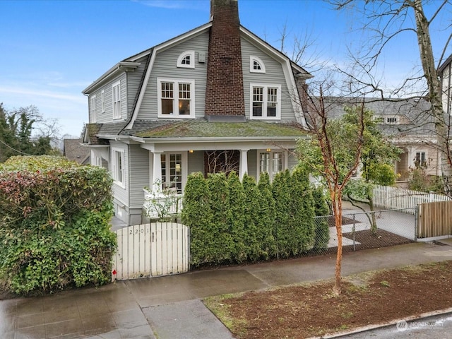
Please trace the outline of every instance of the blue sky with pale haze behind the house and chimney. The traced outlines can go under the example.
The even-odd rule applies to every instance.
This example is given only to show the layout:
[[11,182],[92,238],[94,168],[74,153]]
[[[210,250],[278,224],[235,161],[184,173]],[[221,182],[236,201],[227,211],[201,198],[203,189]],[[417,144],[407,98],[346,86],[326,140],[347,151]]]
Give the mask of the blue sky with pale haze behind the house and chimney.
[[[0,0],[0,102],[10,110],[35,105],[59,121],[61,135],[79,136],[88,122],[86,86],[118,61],[207,23],[209,11],[209,0]],[[346,47],[363,37],[350,32],[353,12],[323,1],[239,0],[239,16],[276,48],[285,26],[287,44],[309,35],[309,53],[328,64],[346,64]],[[432,32],[439,43],[444,36]],[[400,81],[418,59],[415,36],[403,37],[386,51],[381,72]]]

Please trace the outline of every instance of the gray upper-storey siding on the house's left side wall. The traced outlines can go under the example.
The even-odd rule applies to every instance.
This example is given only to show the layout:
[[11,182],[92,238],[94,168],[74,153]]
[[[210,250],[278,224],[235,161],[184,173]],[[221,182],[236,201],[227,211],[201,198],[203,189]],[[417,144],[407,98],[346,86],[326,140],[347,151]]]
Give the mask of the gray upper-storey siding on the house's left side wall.
[[[113,95],[112,84],[117,81],[121,81],[121,119],[113,120]],[[105,93],[105,113],[102,113],[102,90]],[[97,109],[97,123],[104,124],[108,122],[125,121],[127,119],[127,82],[126,73],[122,73],[120,76],[109,81],[101,88],[95,90],[91,95],[96,95],[96,109]],[[91,112],[91,111],[90,111]],[[91,113],[90,113],[91,114]]]

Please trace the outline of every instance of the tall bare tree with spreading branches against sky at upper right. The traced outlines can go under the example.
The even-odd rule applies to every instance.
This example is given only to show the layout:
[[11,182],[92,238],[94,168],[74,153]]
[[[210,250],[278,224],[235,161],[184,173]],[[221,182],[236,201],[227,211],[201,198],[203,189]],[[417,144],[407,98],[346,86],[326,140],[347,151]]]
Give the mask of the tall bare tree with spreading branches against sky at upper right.
[[[442,47],[432,45],[430,30],[433,23],[441,20],[441,14],[451,11],[452,3],[448,0],[330,0],[338,10],[352,9],[363,17],[359,23],[362,30],[370,32],[369,40],[364,46],[360,45],[361,54],[350,50],[353,61],[352,69],[343,71],[350,77],[350,89],[355,93],[378,93],[381,100],[396,95],[409,95],[427,97],[430,102],[429,117],[434,122],[436,134],[436,147],[441,154],[441,172],[445,180],[446,192],[452,193],[452,154],[449,147],[450,121],[446,118],[441,101],[441,81],[437,69],[444,61],[446,52],[450,49],[452,39],[451,20],[442,20],[439,23],[441,35],[446,37]],[[428,17],[424,5],[429,4],[432,14]],[[384,88],[381,79],[375,76],[378,63],[383,58],[383,51],[389,44],[405,33],[414,33],[419,47],[419,71],[403,79],[398,88],[388,91]],[[364,47],[364,48],[363,48]],[[436,58],[435,54],[436,52]]]

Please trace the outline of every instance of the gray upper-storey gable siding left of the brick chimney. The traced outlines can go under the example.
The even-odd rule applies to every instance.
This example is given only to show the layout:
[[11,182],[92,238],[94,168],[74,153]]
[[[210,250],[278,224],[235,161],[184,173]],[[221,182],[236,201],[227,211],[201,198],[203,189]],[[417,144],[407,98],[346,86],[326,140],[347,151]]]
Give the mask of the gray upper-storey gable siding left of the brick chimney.
[[[177,58],[187,50],[195,51],[195,68],[177,67]],[[198,62],[198,53],[208,51],[208,32],[191,38],[157,54],[149,83],[141,103],[138,119],[157,119],[157,78],[194,79],[196,117],[204,116],[207,61]]]

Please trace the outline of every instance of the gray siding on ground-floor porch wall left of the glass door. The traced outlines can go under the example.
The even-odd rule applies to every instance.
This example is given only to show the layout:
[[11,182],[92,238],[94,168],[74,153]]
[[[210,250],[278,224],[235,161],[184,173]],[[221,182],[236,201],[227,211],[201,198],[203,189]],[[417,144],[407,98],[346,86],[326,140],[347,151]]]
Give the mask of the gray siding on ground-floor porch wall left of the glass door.
[[140,145],[129,146],[130,208],[141,208],[144,202],[143,188],[149,186],[149,151]]

